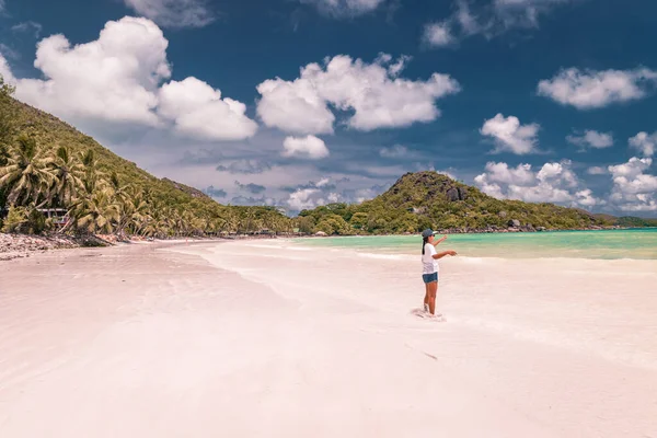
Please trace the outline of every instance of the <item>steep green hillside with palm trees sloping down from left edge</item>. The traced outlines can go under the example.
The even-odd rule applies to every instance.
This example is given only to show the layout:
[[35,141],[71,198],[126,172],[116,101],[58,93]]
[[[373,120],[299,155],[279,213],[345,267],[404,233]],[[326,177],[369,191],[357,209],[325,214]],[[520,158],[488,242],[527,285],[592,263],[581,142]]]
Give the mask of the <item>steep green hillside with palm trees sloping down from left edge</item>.
[[42,217],[45,208],[67,210],[71,232],[165,237],[291,229],[275,208],[222,206],[196,188],[158,178],[11,93],[0,77],[4,231],[55,228]]

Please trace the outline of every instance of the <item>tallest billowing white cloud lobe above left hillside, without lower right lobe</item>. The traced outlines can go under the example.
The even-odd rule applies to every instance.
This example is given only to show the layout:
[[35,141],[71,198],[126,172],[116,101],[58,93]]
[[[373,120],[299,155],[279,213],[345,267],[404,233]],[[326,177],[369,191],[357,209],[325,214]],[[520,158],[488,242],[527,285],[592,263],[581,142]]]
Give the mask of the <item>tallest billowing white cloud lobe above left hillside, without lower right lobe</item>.
[[97,41],[71,47],[64,35],[37,45],[45,80],[22,79],[16,97],[64,118],[158,125],[157,89],[170,77],[168,41],[149,20],[108,22]]

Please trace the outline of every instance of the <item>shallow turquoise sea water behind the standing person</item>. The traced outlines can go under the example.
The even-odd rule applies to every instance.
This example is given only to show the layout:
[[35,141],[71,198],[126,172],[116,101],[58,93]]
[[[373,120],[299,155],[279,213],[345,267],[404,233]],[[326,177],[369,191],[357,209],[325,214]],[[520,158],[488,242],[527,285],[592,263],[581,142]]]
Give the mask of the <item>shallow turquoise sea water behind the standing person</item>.
[[[295,242],[385,254],[418,254],[422,249],[418,235],[311,238]],[[449,234],[438,245],[440,250],[454,250],[471,257],[657,260],[657,229]]]

